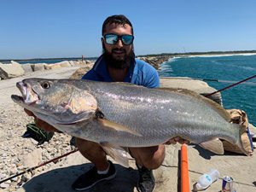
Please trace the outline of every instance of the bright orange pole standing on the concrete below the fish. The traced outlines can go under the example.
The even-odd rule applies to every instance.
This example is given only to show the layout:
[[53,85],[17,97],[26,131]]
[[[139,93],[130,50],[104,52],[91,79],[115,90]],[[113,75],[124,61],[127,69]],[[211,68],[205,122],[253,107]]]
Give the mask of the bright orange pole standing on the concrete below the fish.
[[189,192],[189,161],[186,144],[181,147],[181,192]]

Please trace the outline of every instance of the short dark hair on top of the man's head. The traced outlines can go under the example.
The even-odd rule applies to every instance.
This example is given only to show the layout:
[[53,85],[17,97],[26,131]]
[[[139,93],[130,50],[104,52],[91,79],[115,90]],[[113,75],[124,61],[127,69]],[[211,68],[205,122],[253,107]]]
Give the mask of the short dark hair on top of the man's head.
[[118,25],[122,25],[125,26],[125,24],[128,24],[129,26],[131,26],[131,34],[133,35],[133,27],[131,25],[131,21],[128,20],[125,15],[112,15],[109,16],[106,20],[104,20],[103,25],[102,25],[102,36],[104,34],[104,32],[106,31],[106,26],[107,24],[118,24]]

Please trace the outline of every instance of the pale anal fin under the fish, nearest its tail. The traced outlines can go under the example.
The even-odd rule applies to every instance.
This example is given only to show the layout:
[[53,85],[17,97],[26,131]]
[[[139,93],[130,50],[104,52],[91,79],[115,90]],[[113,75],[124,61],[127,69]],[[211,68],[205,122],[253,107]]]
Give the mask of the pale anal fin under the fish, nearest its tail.
[[223,143],[218,138],[208,142],[200,143],[199,145],[214,154],[224,154]]

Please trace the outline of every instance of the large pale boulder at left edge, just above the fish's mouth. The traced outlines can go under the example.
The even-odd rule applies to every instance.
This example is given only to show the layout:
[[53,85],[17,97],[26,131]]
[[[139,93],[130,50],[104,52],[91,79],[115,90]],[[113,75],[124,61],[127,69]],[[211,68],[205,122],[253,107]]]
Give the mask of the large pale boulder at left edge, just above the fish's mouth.
[[24,69],[21,67],[20,63],[11,61],[10,64],[0,64],[0,78],[1,79],[11,79],[17,78],[24,75]]

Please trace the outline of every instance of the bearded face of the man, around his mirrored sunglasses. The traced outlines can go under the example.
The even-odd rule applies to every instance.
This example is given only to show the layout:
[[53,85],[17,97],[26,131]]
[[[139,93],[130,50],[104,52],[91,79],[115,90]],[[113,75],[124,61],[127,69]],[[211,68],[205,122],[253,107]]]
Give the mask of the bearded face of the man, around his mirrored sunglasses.
[[[131,26],[125,24],[117,25],[115,23],[107,24],[106,30],[103,35],[112,33],[116,35],[132,35]],[[102,38],[102,46],[105,50],[105,54],[112,57],[113,61],[122,62],[126,61],[132,53],[132,44],[125,45],[121,39],[116,44],[106,44],[105,39]]]

